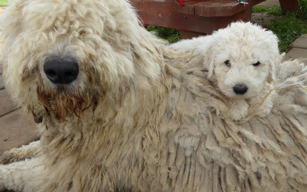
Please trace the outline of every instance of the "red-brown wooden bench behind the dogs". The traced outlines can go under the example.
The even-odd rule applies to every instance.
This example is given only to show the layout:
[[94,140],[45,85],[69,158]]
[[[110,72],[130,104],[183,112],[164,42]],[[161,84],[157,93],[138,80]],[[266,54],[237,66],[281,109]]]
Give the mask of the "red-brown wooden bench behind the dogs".
[[[183,39],[212,33],[231,22],[251,21],[252,7],[265,0],[130,0],[144,24],[178,29]],[[299,0],[279,0],[283,12],[296,11]]]

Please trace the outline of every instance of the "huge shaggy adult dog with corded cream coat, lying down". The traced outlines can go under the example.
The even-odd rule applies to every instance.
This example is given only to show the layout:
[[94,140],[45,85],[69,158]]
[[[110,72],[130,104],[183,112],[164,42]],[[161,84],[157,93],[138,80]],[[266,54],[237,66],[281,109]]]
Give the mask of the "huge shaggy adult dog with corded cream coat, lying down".
[[[219,66],[208,71],[204,57],[166,47],[124,0],[17,0],[0,29],[6,86],[41,133],[0,158],[0,190],[306,190],[299,61],[278,68],[272,112],[238,122],[208,78]],[[273,79],[271,57],[262,58],[244,64],[259,59]]]

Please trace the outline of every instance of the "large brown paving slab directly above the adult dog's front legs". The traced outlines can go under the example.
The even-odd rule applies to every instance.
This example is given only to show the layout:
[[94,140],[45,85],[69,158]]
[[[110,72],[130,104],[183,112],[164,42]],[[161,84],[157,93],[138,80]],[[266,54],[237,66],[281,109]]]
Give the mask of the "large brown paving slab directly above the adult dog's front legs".
[[37,124],[30,116],[27,121],[22,109],[2,116],[0,125],[0,155],[4,151],[21,147],[40,138],[37,133]]

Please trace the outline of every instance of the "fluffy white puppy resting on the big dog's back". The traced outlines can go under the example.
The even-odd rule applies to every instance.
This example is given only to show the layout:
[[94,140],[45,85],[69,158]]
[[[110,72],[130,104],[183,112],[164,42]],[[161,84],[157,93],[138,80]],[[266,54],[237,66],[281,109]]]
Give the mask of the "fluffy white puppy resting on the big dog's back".
[[[208,78],[228,98],[232,119],[253,114],[263,118],[270,113],[275,94],[271,91],[274,66],[280,61],[278,38],[271,31],[250,22],[236,22],[212,35],[170,46],[196,49],[196,54],[204,55]],[[251,108],[255,105],[256,110]]]

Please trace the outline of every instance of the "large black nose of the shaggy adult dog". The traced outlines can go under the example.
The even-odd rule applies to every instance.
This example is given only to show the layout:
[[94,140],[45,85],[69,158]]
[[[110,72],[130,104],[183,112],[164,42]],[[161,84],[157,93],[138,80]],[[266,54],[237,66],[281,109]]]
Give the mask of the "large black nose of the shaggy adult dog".
[[44,72],[51,82],[68,84],[77,78],[79,67],[76,61],[47,60]]

